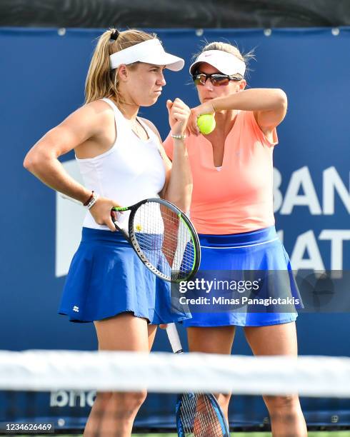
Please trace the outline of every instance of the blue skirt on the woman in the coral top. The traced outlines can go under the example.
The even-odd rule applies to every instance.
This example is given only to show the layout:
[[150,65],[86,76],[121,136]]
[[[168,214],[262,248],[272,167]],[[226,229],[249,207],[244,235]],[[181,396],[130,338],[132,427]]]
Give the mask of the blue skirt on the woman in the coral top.
[[[264,299],[267,304],[213,305],[213,291],[211,290],[210,293],[207,291],[205,296],[209,305],[204,305],[203,300],[200,301],[200,305],[198,301],[195,305],[189,305],[191,318],[183,321],[184,326],[269,326],[296,320],[296,309],[303,307],[301,297],[291,271],[289,256],[274,226],[231,235],[200,234],[199,239],[201,242],[199,278],[216,276],[216,279],[224,279],[225,274],[230,272],[238,276],[246,273],[248,276],[250,274],[262,276],[264,287],[250,297],[255,299],[254,302],[258,299],[262,302]],[[250,273],[251,271],[254,273]],[[214,295],[217,297],[220,293],[222,294],[222,291],[216,291]],[[237,295],[239,293],[236,293],[236,297]],[[278,296],[288,297],[291,303],[287,306],[274,306],[271,302],[276,302],[275,298]],[[283,312],[279,308],[283,308]]]

